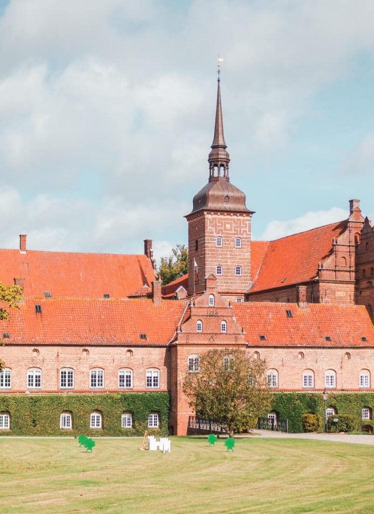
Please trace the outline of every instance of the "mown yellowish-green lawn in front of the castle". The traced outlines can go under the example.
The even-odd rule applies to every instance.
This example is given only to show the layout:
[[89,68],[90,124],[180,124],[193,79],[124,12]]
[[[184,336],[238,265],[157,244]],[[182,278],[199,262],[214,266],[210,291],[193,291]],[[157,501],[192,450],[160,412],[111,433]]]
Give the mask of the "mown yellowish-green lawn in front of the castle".
[[374,446],[302,439],[0,438],[2,512],[373,512]]

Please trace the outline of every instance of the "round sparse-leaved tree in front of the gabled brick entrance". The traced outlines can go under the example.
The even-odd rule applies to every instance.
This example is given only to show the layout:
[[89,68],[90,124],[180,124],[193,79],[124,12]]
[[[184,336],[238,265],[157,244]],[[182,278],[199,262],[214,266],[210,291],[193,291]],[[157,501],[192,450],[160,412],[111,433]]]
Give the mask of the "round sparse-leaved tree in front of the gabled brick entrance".
[[200,358],[200,372],[186,375],[183,391],[197,415],[232,437],[269,411],[272,394],[265,369],[264,360],[248,358],[245,350],[210,350]]

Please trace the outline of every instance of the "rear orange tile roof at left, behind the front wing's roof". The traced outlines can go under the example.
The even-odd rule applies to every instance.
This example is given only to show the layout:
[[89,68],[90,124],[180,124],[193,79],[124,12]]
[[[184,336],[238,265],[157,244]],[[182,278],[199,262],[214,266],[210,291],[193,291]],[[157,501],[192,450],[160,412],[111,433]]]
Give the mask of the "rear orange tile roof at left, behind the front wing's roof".
[[0,262],[0,281],[25,279],[25,297],[124,298],[155,280],[146,255],[0,250]]

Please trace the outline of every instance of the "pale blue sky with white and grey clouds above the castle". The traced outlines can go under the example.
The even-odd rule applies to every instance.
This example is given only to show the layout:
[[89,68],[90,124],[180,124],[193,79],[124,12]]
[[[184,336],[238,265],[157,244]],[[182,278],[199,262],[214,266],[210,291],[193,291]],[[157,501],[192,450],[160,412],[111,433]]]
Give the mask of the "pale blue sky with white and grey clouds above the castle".
[[0,247],[187,242],[217,55],[252,238],[374,218],[372,0],[0,0]]

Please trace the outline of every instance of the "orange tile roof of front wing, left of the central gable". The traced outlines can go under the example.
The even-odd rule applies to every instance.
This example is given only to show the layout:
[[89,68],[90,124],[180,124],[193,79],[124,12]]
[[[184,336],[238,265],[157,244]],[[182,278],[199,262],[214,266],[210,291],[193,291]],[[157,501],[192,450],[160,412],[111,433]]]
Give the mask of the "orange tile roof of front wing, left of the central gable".
[[[152,300],[25,300],[9,309],[0,331],[12,344],[53,345],[166,345],[180,322],[186,302]],[[141,338],[141,334],[145,337]]]

